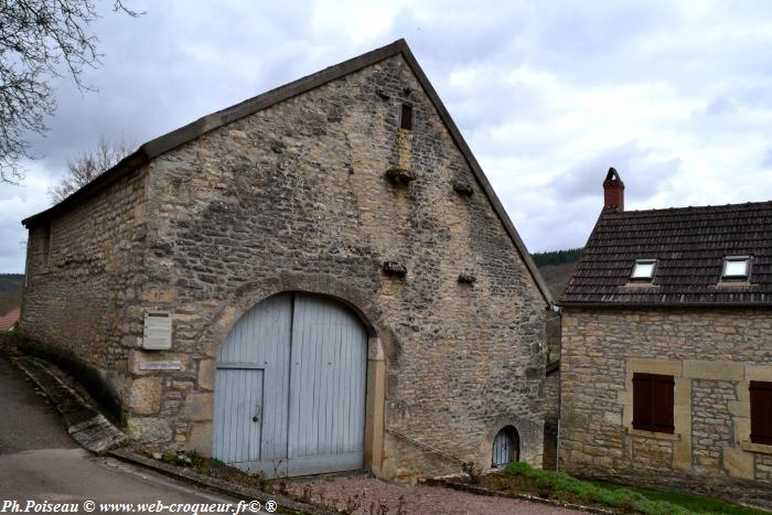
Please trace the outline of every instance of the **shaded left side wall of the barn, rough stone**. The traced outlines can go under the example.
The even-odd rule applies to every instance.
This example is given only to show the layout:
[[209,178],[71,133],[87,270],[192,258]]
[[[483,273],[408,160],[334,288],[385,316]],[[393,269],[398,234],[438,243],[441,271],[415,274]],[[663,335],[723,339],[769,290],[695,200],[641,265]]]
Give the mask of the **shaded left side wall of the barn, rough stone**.
[[146,179],[117,181],[32,227],[28,243],[21,331],[92,367],[118,404],[141,309]]

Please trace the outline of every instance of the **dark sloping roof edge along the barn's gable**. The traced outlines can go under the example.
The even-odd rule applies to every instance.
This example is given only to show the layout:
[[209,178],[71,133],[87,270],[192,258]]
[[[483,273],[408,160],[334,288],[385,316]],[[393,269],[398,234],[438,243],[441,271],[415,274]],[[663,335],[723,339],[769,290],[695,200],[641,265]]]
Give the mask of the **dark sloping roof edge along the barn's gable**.
[[448,131],[453,138],[453,141],[459,147],[459,150],[467,160],[480,186],[485,193],[485,196],[487,197],[489,202],[491,202],[494,212],[501,219],[507,235],[512,239],[513,244],[515,245],[515,248],[521,255],[521,258],[525,262],[526,268],[530,272],[530,276],[533,277],[534,281],[536,282],[536,286],[539,289],[539,292],[544,297],[547,304],[551,304],[553,297],[549,292],[549,288],[544,281],[544,278],[538,271],[538,268],[534,264],[534,260],[532,259],[530,254],[525,247],[525,244],[521,239],[519,234],[517,234],[517,230],[515,229],[514,224],[510,219],[510,216],[506,214],[503,204],[498,200],[496,193],[493,191],[493,187],[487,181],[485,173],[483,173],[480,163],[478,162],[474,154],[472,154],[469,144],[467,144],[467,141],[463,139],[463,136],[461,136],[461,132],[455,126],[453,119],[450,117],[448,109],[444,107],[444,104],[442,104],[442,100],[440,99],[439,95],[437,95],[435,87],[429,82],[429,78],[423,73],[423,69],[421,69],[420,65],[418,64],[418,61],[416,61],[416,57],[412,55],[410,47],[407,45],[407,42],[404,39],[397,40],[394,43],[383,46],[380,49],[373,50],[357,57],[353,57],[349,61],[344,61],[334,66],[330,66],[322,71],[319,71],[314,74],[285,84],[283,86],[279,86],[276,89],[271,89],[254,98],[244,100],[240,104],[236,104],[235,106],[230,106],[223,110],[201,117],[197,120],[187,124],[186,126],[172,130],[171,132],[160,136],[151,141],[148,141],[147,143],[142,144],[139,149],[137,149],[133,153],[129,154],[124,160],[121,160],[118,164],[116,164],[101,175],[97,176],[94,181],[89,182],[88,184],[69,195],[64,201],[43,212],[40,212],[35,215],[23,219],[21,223],[25,227],[31,228],[41,223],[50,221],[51,218],[57,216],[60,213],[65,212],[72,208],[73,206],[77,205],[79,202],[98,194],[107,185],[114,183],[121,176],[131,173],[139,167],[148,163],[153,158],[157,158],[165,152],[169,152],[170,150],[175,149],[176,147],[180,147],[181,144],[192,141],[195,138],[199,138],[200,136],[210,132],[211,130],[217,129],[218,127],[223,127],[240,118],[253,115],[276,104],[288,100],[294,96],[301,95],[305,92],[320,87],[329,82],[336,81],[364,67],[372,66],[380,61],[400,54],[412,71],[412,73],[416,75],[416,78],[423,88],[423,92],[427,94],[435,108],[439,112],[440,118],[442,119]]

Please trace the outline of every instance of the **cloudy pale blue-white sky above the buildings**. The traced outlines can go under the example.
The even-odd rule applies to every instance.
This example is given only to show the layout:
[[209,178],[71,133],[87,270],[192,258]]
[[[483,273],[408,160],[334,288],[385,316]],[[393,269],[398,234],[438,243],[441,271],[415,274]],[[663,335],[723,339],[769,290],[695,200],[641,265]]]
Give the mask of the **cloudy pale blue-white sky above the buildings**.
[[0,272],[100,135],[137,146],[405,37],[532,251],[585,244],[615,167],[625,207],[772,200],[772,2],[129,0],[93,25],[98,93],[56,83],[23,185],[0,184]]

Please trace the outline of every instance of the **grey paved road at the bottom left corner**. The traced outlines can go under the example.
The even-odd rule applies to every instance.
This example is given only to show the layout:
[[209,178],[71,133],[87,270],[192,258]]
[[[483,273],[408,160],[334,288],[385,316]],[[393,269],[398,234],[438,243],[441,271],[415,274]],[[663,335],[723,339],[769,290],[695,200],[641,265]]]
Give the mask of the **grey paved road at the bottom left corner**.
[[[0,513],[18,501],[42,503],[230,503],[111,458],[98,458],[71,440],[43,394],[0,350]],[[171,513],[169,511],[162,513]],[[185,513],[185,512],[183,512]],[[190,512],[186,512],[190,513]]]

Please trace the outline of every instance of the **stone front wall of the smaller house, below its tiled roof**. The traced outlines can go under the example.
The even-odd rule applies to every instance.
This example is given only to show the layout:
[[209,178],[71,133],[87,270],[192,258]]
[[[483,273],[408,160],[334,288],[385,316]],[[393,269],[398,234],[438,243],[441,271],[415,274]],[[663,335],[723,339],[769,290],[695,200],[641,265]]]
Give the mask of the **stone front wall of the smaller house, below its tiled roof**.
[[[560,468],[772,505],[750,380],[772,380],[769,310],[565,308]],[[632,429],[632,374],[675,378],[674,434]]]

